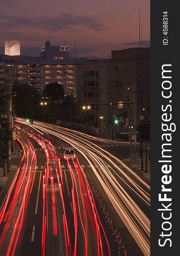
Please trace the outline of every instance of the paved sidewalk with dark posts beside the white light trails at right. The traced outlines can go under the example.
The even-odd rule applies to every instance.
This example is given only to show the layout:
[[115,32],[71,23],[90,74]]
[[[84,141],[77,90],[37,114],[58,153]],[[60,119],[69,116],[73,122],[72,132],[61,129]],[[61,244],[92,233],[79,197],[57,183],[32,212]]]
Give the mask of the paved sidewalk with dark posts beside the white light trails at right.
[[[150,174],[151,174],[151,162],[149,161],[149,159],[147,158],[147,171],[146,170],[146,160],[145,157],[143,157],[143,171],[141,170],[141,158],[137,158],[137,159],[132,159],[132,162],[130,162],[130,159],[124,159],[123,163],[125,163],[129,168],[133,169],[135,172],[139,173],[140,175],[144,176],[148,181],[150,181]],[[149,182],[148,182],[149,183]]]

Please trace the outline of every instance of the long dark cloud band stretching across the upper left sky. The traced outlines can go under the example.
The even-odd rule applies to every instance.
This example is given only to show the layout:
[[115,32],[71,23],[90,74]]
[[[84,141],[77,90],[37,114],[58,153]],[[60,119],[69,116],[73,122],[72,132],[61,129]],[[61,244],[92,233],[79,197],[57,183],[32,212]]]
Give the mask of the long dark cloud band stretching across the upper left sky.
[[[6,29],[12,29],[17,26],[31,28],[38,28],[42,30],[51,30],[53,32],[61,29],[70,29],[71,31],[78,31],[78,26],[85,26],[94,31],[100,31],[103,29],[103,24],[100,23],[96,17],[90,17],[88,15],[75,16],[67,13],[61,13],[56,17],[20,17],[1,15],[0,22],[3,23],[3,27]],[[75,28],[76,26],[76,28]]]

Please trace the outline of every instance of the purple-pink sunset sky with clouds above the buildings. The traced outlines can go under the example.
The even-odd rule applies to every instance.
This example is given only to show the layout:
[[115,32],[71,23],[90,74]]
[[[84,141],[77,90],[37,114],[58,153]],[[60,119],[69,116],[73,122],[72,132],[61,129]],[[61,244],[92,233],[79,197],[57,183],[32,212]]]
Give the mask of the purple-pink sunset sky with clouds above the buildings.
[[4,41],[18,40],[21,54],[37,56],[51,36],[51,45],[70,46],[74,56],[111,57],[111,50],[138,47],[139,9],[143,46],[150,46],[150,0],[8,0],[1,1],[0,54]]

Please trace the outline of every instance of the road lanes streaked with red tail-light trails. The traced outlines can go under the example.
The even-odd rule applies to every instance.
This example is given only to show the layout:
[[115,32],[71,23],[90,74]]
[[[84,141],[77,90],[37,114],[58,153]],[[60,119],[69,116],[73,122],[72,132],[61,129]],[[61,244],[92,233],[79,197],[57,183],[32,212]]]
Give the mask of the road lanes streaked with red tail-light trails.
[[0,255],[118,255],[78,157],[62,163],[36,128],[17,125],[17,140],[22,159],[1,206]]

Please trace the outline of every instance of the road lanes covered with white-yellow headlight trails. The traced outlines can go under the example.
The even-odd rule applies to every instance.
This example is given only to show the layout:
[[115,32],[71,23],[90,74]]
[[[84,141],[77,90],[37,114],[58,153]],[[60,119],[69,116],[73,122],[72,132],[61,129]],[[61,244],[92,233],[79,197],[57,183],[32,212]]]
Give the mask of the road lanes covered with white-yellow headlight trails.
[[[19,121],[27,124],[23,119]],[[94,139],[81,132],[42,122],[34,122],[30,127],[42,133],[43,137],[54,140],[56,144],[63,140],[64,143],[74,146],[80,154],[81,168],[91,168],[91,175],[99,181],[131,236],[143,254],[149,255],[149,185],[97,143],[107,143],[107,140]]]

